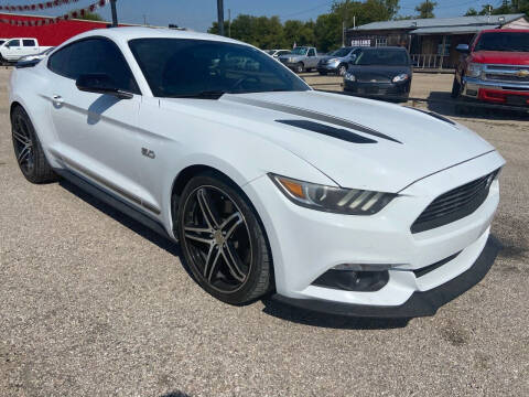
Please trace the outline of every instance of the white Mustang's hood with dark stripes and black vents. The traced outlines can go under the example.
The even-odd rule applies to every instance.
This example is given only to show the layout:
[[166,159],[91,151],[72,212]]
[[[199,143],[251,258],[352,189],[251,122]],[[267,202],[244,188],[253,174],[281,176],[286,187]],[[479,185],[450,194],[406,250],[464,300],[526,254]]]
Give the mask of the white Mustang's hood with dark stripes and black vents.
[[[161,106],[175,100],[181,99],[162,99]],[[224,95],[186,104],[197,117],[274,142],[343,187],[396,193],[494,150],[476,133],[442,117],[337,94]]]

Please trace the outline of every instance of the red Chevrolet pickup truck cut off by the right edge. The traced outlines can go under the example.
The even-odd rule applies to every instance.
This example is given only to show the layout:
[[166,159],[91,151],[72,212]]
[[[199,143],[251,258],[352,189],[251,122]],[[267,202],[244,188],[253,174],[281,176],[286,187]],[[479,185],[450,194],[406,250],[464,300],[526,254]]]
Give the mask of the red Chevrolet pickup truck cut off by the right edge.
[[453,98],[529,106],[529,30],[484,30],[456,50]]

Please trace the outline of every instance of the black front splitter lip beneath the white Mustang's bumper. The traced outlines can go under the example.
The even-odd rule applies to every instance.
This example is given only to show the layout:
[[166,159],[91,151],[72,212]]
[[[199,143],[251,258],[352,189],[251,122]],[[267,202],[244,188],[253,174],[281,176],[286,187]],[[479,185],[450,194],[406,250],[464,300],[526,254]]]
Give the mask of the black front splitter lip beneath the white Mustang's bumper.
[[[410,319],[433,315],[439,308],[460,297],[482,281],[492,268],[498,251],[498,243],[493,237],[489,237],[484,250],[468,270],[429,291],[414,292],[406,303],[399,307],[374,307],[315,299],[293,299],[280,294],[274,294],[272,300],[295,308],[347,316]],[[478,310],[478,308],[476,308],[476,310]]]

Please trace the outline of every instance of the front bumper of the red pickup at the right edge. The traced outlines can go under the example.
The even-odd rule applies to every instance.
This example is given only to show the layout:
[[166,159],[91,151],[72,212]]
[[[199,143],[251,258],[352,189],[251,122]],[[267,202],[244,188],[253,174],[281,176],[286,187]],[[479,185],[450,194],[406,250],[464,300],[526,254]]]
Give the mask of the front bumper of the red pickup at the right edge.
[[529,106],[529,84],[463,77],[463,87],[462,95],[467,98],[510,106]]

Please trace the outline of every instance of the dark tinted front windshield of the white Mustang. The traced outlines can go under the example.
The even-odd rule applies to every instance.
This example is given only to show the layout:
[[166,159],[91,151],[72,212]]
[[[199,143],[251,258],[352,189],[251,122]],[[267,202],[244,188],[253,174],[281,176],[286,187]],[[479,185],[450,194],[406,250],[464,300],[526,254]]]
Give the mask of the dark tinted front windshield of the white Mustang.
[[129,45],[156,97],[311,89],[248,45],[185,39],[137,39]]

